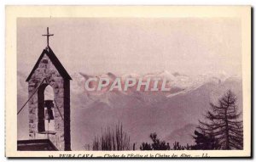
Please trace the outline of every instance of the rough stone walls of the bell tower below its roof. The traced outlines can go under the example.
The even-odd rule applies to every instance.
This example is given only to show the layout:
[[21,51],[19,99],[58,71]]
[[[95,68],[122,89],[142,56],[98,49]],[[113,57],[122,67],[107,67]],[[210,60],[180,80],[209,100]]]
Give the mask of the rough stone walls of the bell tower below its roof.
[[[42,83],[42,81],[44,82]],[[49,57],[44,54],[37,70],[34,70],[28,81],[29,97],[37,89],[38,91],[29,100],[29,137],[30,139],[45,138],[38,133],[38,123],[44,112],[44,89],[50,86],[54,90],[55,111],[55,135],[49,135],[51,142],[59,150],[70,150],[70,85],[69,80],[64,80],[52,64]],[[58,107],[58,109],[57,109]],[[42,120],[42,119],[41,119]]]

